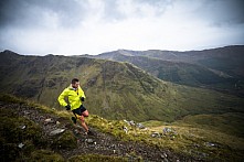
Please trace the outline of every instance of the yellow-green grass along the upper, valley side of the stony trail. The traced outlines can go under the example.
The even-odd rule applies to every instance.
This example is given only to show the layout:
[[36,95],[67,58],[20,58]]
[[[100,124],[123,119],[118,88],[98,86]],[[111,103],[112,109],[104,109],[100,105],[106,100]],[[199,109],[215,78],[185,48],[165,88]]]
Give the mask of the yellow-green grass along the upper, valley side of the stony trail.
[[[12,96],[8,97],[8,95],[0,97],[0,100],[3,99],[8,101],[12,100],[13,102],[19,101],[21,104],[28,102],[26,100],[23,101]],[[66,119],[70,119],[72,116],[66,111],[50,110],[49,107],[34,105],[33,102],[31,102],[31,105],[34,106],[34,108],[42,109],[44,112],[54,114]],[[242,160],[244,153],[243,127],[240,125],[242,121],[243,116],[240,112],[195,115],[187,116],[176,122],[150,120],[144,122],[147,129],[140,130],[134,126],[128,126],[125,121],[107,120],[96,115],[91,115],[86,120],[88,126],[104,133],[109,133],[118,140],[167,148],[180,154],[200,156],[201,159],[210,161]],[[123,130],[124,127],[128,128],[127,133]],[[176,133],[163,134],[163,128],[170,128],[174,130]],[[151,137],[151,133],[156,131],[161,134],[161,138]],[[104,159],[104,156],[98,156],[98,159]],[[120,158],[118,159],[121,160]]]

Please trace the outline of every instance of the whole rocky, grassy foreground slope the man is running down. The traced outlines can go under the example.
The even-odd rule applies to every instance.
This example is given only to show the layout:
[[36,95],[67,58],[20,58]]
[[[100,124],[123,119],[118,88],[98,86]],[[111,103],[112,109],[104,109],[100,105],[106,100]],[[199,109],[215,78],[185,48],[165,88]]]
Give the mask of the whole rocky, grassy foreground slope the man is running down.
[[[86,118],[94,136],[56,110],[0,95],[1,161],[242,161],[244,140],[192,126]],[[243,118],[243,116],[241,116]],[[199,118],[201,120],[201,118]],[[230,131],[230,129],[229,129]]]

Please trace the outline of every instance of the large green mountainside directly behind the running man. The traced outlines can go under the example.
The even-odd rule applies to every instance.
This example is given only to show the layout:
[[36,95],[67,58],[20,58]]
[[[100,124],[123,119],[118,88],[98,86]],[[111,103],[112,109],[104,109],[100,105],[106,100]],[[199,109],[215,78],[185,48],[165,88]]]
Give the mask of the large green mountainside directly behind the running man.
[[91,114],[107,119],[173,121],[188,115],[243,112],[242,98],[162,82],[129,63],[0,53],[0,88],[59,107],[57,96],[81,79]]

